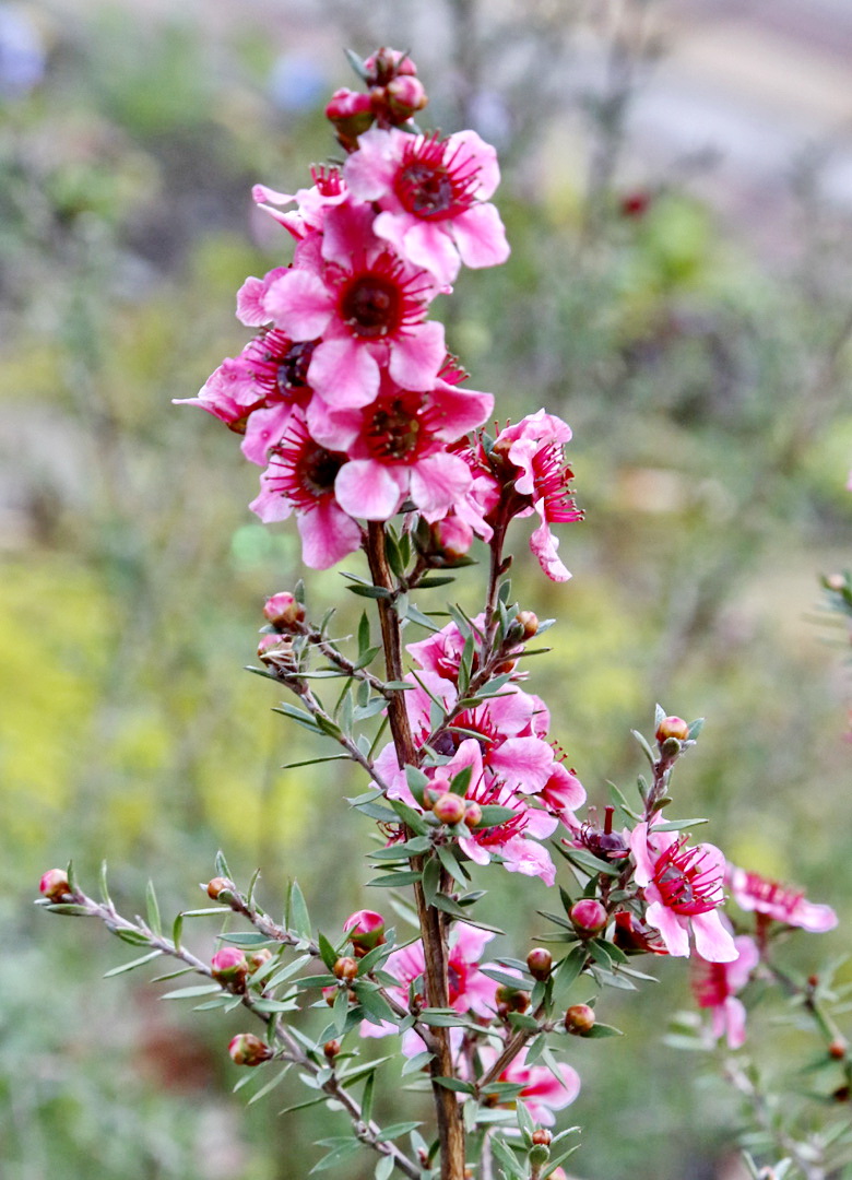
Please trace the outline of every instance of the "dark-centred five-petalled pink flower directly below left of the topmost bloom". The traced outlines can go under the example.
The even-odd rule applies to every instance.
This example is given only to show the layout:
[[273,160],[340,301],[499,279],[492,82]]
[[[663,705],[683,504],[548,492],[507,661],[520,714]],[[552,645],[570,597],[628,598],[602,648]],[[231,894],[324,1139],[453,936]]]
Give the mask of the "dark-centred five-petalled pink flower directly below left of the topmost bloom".
[[384,366],[404,388],[431,389],[446,352],[444,326],[425,322],[434,280],[374,235],[373,217],[365,205],[329,209],[321,249],[300,247],[296,267],[263,301],[276,327],[294,340],[322,337],[308,381],[336,407],[374,401]]

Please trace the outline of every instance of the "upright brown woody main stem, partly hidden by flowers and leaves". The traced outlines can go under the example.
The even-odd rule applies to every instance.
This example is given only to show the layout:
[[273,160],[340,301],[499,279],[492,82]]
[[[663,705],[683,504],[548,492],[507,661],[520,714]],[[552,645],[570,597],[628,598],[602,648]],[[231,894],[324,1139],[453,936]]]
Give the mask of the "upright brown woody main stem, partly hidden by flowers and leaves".
[[[373,584],[393,591],[393,575],[387,563],[385,551],[385,525],[371,520],[367,536],[367,562]],[[379,623],[385,649],[385,668],[388,680],[402,680],[402,637],[399,616],[388,598],[379,598]],[[391,733],[396,749],[396,759],[402,766],[418,765],[418,752],[408,725],[408,713],[405,694],[392,693],[388,700],[387,715]],[[412,857],[412,868],[422,868],[422,858]],[[441,914],[426,904],[422,885],[414,885],[414,899],[420,918],[420,937],[424,945],[426,963],[426,1001],[430,1008],[447,1008],[450,1003],[447,986],[447,945],[444,935]],[[453,1058],[450,1047],[450,1029],[433,1029],[435,1056],[431,1063],[432,1077],[452,1077]],[[441,1180],[464,1180],[465,1174],[465,1130],[461,1121],[461,1107],[452,1090],[433,1082],[432,1093],[438,1121],[438,1141],[440,1146]]]

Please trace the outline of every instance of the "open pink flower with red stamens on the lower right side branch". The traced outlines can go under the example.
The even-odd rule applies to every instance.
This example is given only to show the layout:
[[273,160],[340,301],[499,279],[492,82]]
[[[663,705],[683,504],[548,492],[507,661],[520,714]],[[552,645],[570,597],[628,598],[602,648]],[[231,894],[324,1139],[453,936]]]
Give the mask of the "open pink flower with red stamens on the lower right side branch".
[[689,930],[695,949],[710,963],[730,963],[736,946],[719,906],[725,900],[725,856],[713,844],[687,847],[676,832],[655,832],[637,824],[630,835],[636,861],[635,880],[648,902],[647,920],[656,926],[669,955],[689,955]]

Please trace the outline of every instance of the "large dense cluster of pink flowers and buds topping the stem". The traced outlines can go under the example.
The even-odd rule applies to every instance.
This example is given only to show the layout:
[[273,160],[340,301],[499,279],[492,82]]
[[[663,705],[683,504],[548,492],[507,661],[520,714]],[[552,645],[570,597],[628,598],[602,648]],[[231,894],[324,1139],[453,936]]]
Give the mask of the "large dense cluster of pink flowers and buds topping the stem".
[[[381,52],[365,63],[372,114],[342,168],[314,168],[310,188],[293,195],[255,186],[293,238],[293,262],[245,280],[237,316],[257,335],[184,400],[243,435],[243,454],[264,468],[251,509],[264,522],[295,513],[313,568],[358,549],[361,520],[400,510],[441,525],[456,555],[474,533],[489,540],[535,511],[533,551],[564,579],[550,524],[579,517],[562,458],[571,431],[540,411],[493,442],[472,440],[493,398],[464,386],[444,326],[430,317],[463,264],[509,256],[490,201],[494,149],[473,131],[441,139],[376,117],[394,85],[415,81],[408,59]],[[334,110],[341,104],[353,100],[335,96]]]

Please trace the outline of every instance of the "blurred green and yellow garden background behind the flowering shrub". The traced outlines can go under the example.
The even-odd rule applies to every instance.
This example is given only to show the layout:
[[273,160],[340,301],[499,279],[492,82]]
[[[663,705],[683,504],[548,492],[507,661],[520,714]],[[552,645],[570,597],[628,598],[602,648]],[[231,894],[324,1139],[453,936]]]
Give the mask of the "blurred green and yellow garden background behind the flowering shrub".
[[[276,1116],[295,1079],[230,1096],[238,1014],[160,1003],[150,969],[104,981],[122,944],[31,900],[44,870],[73,857],[91,886],[106,857],[129,912],[149,877],[176,912],[222,847],[238,879],[261,867],[273,912],[291,876],[326,929],[375,904],[369,822],[341,802],[366,784],[281,771],[325,750],[241,671],[264,597],[304,572],[295,529],[251,516],[235,435],[171,399],[249,339],[243,277],[289,260],[251,184],[294,191],[336,155],[322,107],[352,84],[342,47],[381,44],[418,61],[424,126],[473,126],[503,160],[512,257],[437,310],[451,345],[503,418],[545,405],[575,431],[574,581],[515,545],[516,594],[559,618],[530,684],[555,735],[603,802],[642,769],[629,730],[655,701],[706,716],[677,814],[839,911],[839,931],[792,940],[802,970],[848,945],[852,671],[817,609],[819,576],[852,562],[848,5],[2,2],[4,1180],[287,1180],[329,1133],[314,1109]],[[337,572],[308,591],[352,630]],[[516,884],[485,903],[505,953],[549,907]],[[214,920],[186,935],[205,957]],[[575,1173],[738,1180],[736,1102],[663,1043],[687,969],[654,966],[638,999],[602,1002],[627,1037],[571,1045]],[[802,1063],[794,1029],[767,1018],[749,1044],[769,1040],[767,1068]],[[369,1175],[366,1158],[347,1173]]]

